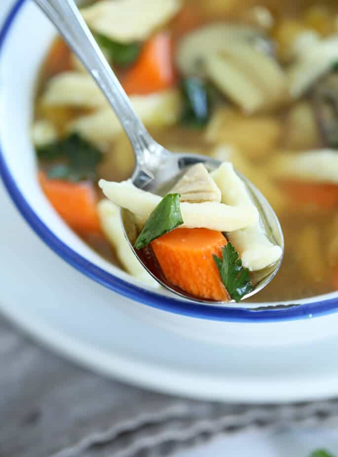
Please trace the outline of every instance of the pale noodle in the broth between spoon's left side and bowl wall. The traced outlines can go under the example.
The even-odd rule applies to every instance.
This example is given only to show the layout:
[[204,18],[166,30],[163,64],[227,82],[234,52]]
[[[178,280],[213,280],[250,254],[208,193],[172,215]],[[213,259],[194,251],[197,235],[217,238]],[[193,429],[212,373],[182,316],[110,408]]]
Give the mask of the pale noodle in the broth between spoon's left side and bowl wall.
[[119,207],[110,200],[104,199],[98,203],[97,209],[102,230],[113,245],[117,257],[126,271],[148,285],[158,288],[157,281],[150,276],[130,249],[122,230]]

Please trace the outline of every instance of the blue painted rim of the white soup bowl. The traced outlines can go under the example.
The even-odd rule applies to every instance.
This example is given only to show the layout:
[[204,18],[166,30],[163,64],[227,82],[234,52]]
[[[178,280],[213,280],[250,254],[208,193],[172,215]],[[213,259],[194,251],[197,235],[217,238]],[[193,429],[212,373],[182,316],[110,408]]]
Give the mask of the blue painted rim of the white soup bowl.
[[[6,37],[13,21],[26,0],[18,0],[10,10],[0,29],[0,57]],[[38,217],[33,208],[28,204],[23,194],[17,187],[12,177],[1,149],[0,139],[0,175],[12,201],[21,215],[44,241],[44,243],[60,257],[74,266],[87,277],[102,284],[103,286],[134,301],[149,305],[163,311],[172,312],[188,317],[225,322],[271,322],[307,319],[314,316],[323,316],[333,313],[338,308],[338,298],[331,298],[311,303],[295,305],[283,309],[253,310],[247,308],[229,308],[220,306],[205,306],[189,303],[184,300],[161,295],[156,292],[145,290],[124,281],[111,273],[96,266],[92,262],[79,255],[60,240]],[[277,305],[277,303],[274,303]]]

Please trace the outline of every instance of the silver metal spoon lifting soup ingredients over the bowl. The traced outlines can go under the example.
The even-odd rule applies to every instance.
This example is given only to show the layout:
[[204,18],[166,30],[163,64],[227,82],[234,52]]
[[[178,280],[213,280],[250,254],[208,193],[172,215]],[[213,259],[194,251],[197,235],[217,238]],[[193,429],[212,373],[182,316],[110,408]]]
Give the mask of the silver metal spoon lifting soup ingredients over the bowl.
[[[207,156],[174,154],[163,148],[150,136],[135,113],[128,96],[118,82],[73,0],[34,1],[59,30],[111,104],[134,149],[136,167],[132,181],[136,187],[156,193],[159,188],[163,187],[163,184],[173,182],[175,178],[177,179],[182,175],[188,166],[202,162],[209,170],[213,170],[221,165],[220,161]],[[267,236],[272,243],[278,244],[284,252],[283,233],[275,212],[262,193],[247,178],[239,173],[238,175],[251,192],[259,209]],[[130,247],[133,249],[131,243]],[[143,263],[135,250],[134,253]],[[257,279],[254,290],[248,293],[245,298],[261,291],[273,279],[281,265],[282,257],[277,264],[271,265],[265,270],[263,277]],[[169,285],[164,278],[160,278],[158,274],[151,271],[144,263],[143,265],[166,289],[194,301],[215,304],[215,301],[192,297],[184,291],[176,289]]]

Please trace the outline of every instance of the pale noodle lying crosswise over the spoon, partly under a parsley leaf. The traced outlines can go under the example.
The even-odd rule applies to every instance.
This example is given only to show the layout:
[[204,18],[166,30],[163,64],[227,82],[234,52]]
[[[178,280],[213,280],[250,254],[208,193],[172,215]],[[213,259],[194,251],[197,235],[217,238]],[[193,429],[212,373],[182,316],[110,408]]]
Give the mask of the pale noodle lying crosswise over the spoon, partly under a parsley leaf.
[[[144,221],[161,201],[161,197],[138,189],[130,180],[118,183],[101,179],[99,186],[112,202],[137,214]],[[217,202],[181,203],[180,209],[184,220],[181,228],[230,232],[247,227],[259,218],[252,202],[244,206],[228,206]]]

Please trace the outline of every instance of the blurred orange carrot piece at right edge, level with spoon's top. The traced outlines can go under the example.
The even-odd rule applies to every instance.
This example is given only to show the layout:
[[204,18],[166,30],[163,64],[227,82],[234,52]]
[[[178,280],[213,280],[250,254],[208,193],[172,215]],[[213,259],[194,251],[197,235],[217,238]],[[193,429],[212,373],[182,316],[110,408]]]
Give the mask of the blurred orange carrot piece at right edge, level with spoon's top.
[[314,203],[324,209],[333,209],[338,206],[337,184],[285,181],[280,185],[293,202]]

